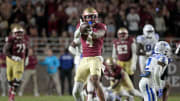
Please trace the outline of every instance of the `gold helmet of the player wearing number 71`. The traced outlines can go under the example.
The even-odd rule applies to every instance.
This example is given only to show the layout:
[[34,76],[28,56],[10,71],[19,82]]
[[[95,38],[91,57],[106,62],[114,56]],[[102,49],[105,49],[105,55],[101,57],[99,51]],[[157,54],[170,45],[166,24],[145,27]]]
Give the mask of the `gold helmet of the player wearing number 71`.
[[24,37],[24,29],[21,26],[15,26],[12,29],[12,34],[17,37],[17,38],[22,38]]

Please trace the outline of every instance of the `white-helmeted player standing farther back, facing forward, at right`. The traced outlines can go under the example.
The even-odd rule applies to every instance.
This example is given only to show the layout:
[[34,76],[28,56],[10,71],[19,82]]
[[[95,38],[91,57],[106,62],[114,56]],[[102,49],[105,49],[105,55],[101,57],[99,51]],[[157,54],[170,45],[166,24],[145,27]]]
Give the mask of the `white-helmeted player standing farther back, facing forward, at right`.
[[142,72],[147,58],[153,53],[155,44],[159,40],[159,35],[155,34],[154,27],[146,24],[143,27],[143,35],[137,36],[137,54],[139,55],[139,66]]

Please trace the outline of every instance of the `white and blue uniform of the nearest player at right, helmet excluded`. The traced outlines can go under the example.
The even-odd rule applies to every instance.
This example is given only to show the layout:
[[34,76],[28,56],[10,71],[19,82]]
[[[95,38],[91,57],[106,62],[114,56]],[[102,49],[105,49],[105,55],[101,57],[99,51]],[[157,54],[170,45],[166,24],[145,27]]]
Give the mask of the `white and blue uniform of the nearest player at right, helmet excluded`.
[[146,62],[144,71],[150,75],[142,77],[139,82],[139,88],[144,96],[144,101],[157,101],[156,91],[164,87],[165,82],[161,80],[169,59],[163,54],[153,54]]

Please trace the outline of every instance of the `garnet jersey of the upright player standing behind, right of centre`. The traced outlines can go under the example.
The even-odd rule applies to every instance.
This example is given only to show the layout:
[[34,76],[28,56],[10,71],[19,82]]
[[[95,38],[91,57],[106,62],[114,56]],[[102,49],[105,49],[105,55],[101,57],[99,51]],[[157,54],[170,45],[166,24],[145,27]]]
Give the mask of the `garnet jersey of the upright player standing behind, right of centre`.
[[113,40],[113,45],[115,47],[116,55],[120,61],[129,61],[132,57],[131,45],[133,43],[133,38],[128,37],[126,40]]

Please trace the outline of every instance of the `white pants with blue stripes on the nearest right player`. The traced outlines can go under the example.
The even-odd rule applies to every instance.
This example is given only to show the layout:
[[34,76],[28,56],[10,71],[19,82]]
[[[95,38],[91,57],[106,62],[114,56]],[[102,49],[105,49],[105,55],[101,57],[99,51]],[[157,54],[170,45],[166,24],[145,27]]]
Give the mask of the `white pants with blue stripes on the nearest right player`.
[[157,101],[155,88],[151,85],[151,80],[148,78],[141,78],[139,81],[139,88],[143,94],[144,101]]

